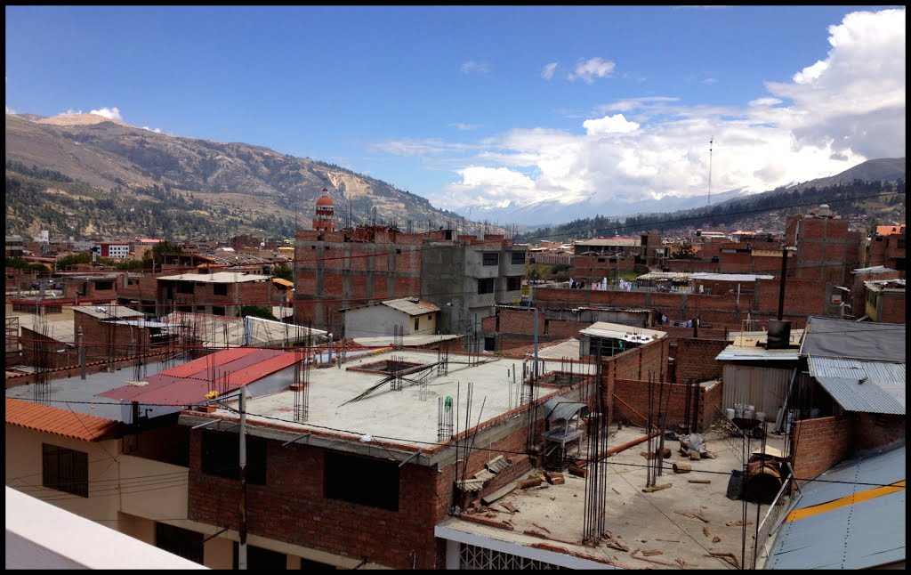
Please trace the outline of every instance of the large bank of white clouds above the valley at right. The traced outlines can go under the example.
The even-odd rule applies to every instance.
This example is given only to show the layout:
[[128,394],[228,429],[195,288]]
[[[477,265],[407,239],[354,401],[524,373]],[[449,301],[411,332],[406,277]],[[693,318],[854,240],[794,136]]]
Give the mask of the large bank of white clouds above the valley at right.
[[[757,87],[740,106],[693,106],[673,94],[618,98],[593,107],[575,128],[512,129],[460,147],[389,142],[384,149],[460,162],[455,182],[428,195],[442,208],[587,202],[582,216],[704,196],[710,139],[712,194],[773,190],[866,159],[903,157],[905,9],[855,12],[828,32],[823,59]],[[576,78],[612,72],[612,63],[592,60],[580,63]]]

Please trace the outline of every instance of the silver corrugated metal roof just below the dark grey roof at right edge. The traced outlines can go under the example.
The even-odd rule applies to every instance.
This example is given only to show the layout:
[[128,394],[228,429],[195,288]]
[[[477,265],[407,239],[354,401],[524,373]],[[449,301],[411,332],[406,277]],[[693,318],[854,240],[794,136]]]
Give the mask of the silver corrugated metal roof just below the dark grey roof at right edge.
[[810,375],[845,410],[905,415],[905,364],[813,356],[808,363]]

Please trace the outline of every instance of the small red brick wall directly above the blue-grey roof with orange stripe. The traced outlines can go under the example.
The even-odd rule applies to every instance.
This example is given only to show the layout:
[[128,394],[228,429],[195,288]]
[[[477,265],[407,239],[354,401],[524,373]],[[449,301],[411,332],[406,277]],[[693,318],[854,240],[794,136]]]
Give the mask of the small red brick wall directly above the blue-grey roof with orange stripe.
[[852,451],[853,425],[848,416],[802,419],[791,434],[794,475],[799,483],[813,479]]

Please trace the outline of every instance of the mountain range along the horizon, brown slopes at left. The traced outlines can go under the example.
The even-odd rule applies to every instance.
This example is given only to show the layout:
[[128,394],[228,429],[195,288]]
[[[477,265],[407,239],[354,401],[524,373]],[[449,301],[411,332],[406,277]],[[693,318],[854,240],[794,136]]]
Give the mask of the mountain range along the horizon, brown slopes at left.
[[[420,196],[331,163],[249,144],[171,136],[95,114],[7,113],[5,166],[7,235],[48,230],[56,237],[291,237],[297,227],[310,227],[323,189],[335,201],[340,226],[375,222],[403,231],[439,226],[504,231],[466,222]],[[875,159],[786,190],[904,179],[904,158]],[[713,194],[711,205],[745,196],[740,190]],[[705,203],[704,197],[665,198],[604,215],[670,213]],[[473,215],[486,222],[553,225],[597,211],[584,203],[542,201]]]

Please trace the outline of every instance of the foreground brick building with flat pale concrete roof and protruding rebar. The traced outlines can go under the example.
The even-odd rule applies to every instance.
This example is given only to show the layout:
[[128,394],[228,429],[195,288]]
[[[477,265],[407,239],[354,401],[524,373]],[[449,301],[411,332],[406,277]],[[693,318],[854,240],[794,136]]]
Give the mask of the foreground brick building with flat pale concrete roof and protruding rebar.
[[[306,416],[293,415],[301,399],[295,394],[302,392],[291,385],[291,372],[284,390],[268,397],[259,398],[259,384],[251,385],[244,406],[251,414],[248,541],[301,568],[443,569],[450,542],[436,537],[435,527],[525,477],[535,467],[529,434],[532,444],[542,441],[541,406],[551,397],[589,405],[596,373],[593,365],[580,366],[588,371],[542,383],[537,401],[523,404],[519,387],[502,382],[513,362],[488,358],[472,365],[468,356],[449,355],[448,367],[458,365],[460,377],[473,382],[469,393],[438,371],[438,359],[386,352],[349,359],[342,371],[312,369]],[[395,387],[401,370],[409,381],[429,376],[436,400],[422,399],[415,386]],[[480,408],[477,399],[469,404],[471,395],[485,397],[483,417],[466,429],[454,415]],[[207,531],[239,529],[235,414],[185,412],[180,422],[191,427],[189,518],[210,526]],[[469,441],[475,448],[464,452]]]

